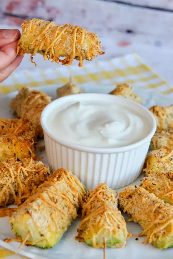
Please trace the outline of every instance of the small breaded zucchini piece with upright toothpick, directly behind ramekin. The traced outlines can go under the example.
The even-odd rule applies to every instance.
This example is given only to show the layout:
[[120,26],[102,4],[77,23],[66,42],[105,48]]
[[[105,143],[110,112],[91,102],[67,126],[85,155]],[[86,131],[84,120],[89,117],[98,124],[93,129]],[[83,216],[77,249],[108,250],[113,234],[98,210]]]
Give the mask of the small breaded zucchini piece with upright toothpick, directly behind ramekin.
[[60,88],[57,88],[57,98],[73,95],[75,93],[82,93],[82,90],[75,84],[67,83]]

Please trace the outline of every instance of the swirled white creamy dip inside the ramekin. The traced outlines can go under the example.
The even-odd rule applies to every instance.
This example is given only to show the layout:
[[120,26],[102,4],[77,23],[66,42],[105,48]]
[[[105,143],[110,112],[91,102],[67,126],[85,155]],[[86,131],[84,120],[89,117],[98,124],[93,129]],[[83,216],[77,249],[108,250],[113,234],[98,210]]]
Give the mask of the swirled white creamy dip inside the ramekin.
[[49,129],[58,138],[89,147],[122,147],[149,133],[147,119],[113,102],[76,102],[53,114]]

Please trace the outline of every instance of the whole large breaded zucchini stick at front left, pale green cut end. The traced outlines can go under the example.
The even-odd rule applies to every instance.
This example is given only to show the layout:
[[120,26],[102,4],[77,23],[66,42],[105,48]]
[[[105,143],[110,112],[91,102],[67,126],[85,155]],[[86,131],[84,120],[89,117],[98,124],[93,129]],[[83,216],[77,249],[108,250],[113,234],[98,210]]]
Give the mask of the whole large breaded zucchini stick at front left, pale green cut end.
[[13,233],[30,244],[50,248],[61,239],[85,199],[86,188],[77,177],[58,169],[10,218]]

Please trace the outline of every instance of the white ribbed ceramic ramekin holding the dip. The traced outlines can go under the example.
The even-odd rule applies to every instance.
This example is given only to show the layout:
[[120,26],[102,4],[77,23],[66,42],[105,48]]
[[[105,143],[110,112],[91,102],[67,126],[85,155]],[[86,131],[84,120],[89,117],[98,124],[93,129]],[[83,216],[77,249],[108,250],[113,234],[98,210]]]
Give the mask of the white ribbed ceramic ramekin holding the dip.
[[[47,120],[52,111],[62,110],[69,101],[82,100],[107,101],[110,105],[116,102],[116,104],[138,111],[148,120],[149,134],[134,144],[116,148],[87,147],[54,136],[47,127]],[[112,189],[132,183],[142,170],[150,140],[156,131],[155,118],[145,107],[126,98],[101,93],[80,93],[54,100],[43,110],[41,126],[44,131],[50,169],[52,171],[58,168],[68,169],[85,184],[87,189],[94,189],[103,182],[106,182]]]

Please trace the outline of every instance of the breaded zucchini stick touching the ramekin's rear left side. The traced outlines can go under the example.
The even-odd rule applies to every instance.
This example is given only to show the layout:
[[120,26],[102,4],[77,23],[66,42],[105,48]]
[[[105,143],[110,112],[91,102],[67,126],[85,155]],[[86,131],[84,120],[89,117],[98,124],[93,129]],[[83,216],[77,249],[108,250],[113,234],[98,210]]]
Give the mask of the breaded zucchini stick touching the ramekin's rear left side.
[[10,107],[18,118],[29,119],[36,126],[36,137],[43,137],[40,116],[43,109],[51,102],[52,97],[45,93],[23,87],[11,100]]

